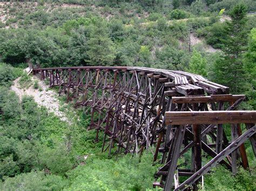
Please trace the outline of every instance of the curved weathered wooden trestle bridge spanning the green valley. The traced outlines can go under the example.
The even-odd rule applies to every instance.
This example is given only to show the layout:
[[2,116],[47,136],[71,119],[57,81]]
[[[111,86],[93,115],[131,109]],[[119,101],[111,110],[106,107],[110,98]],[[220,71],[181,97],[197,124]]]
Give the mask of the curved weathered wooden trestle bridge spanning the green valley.
[[[33,68],[33,74],[91,112],[88,129],[96,130],[96,141],[104,131],[102,151],[141,154],[153,146],[153,161],[163,164],[154,187],[197,189],[218,163],[233,174],[238,165],[248,168],[247,140],[256,156],[256,112],[236,110],[245,95],[202,76],[144,67]],[[185,153],[186,169],[178,165]],[[203,165],[207,156],[212,159]]]

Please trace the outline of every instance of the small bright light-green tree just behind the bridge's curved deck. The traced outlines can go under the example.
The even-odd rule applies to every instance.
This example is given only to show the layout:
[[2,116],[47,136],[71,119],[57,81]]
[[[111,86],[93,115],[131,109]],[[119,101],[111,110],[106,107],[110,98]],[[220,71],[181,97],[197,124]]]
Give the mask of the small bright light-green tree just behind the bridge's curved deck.
[[194,50],[190,63],[188,65],[189,71],[193,74],[207,76],[206,66],[207,66],[207,60],[203,58],[203,56],[199,52]]

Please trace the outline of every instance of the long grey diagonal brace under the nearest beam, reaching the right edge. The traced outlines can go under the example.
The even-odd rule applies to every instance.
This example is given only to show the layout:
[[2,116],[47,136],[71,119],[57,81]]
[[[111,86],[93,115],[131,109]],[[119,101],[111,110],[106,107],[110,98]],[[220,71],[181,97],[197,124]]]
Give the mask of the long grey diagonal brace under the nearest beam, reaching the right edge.
[[216,166],[221,160],[225,159],[228,154],[233,152],[237,149],[242,143],[244,143],[249,137],[255,135],[256,125],[253,126],[251,129],[247,130],[243,135],[235,139],[235,141],[228,145],[223,151],[221,151],[216,157],[210,160],[205,166],[203,166],[197,173],[193,174],[190,178],[186,181],[181,183],[178,188],[175,190],[184,190],[186,186],[191,185],[193,182],[197,181],[201,178],[204,174],[209,172],[212,167]]

